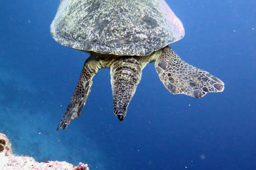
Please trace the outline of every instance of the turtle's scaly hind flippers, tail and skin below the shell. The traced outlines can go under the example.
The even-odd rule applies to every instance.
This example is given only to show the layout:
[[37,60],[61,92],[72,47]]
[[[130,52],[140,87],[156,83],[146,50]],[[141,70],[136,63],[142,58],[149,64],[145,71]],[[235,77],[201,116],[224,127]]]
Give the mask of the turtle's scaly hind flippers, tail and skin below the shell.
[[110,68],[114,113],[122,121],[140,82],[142,69],[154,61],[160,80],[173,94],[202,98],[208,92],[224,90],[224,83],[220,79],[187,64],[169,46],[148,56],[117,56],[91,52],[57,131],[65,129],[80,115],[91,92],[92,79],[100,68]]

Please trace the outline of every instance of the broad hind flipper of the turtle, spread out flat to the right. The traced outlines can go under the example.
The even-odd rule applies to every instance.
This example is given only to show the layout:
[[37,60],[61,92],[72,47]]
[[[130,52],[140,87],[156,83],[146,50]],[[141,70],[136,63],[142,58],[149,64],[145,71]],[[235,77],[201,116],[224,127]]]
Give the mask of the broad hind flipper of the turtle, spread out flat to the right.
[[158,76],[173,94],[202,98],[207,92],[221,92],[224,83],[209,72],[187,64],[166,46],[155,61]]

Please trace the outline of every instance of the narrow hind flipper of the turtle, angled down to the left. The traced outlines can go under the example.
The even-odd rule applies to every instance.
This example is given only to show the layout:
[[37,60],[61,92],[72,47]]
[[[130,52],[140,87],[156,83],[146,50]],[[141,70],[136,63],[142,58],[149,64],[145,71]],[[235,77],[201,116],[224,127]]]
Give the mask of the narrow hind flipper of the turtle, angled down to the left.
[[99,61],[95,56],[91,55],[83,65],[83,69],[75,88],[75,92],[70,100],[68,108],[61,119],[57,131],[59,129],[65,129],[71,123],[74,118],[77,118],[83,106],[86,104],[87,98],[91,92],[93,84],[93,77],[100,69]]

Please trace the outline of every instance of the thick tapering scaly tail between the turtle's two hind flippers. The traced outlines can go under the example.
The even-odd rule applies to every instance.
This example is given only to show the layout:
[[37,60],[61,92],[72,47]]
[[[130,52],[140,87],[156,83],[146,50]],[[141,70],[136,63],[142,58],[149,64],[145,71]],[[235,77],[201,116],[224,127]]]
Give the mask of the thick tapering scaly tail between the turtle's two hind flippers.
[[114,113],[120,121],[140,82],[142,67],[134,57],[121,57],[111,65]]

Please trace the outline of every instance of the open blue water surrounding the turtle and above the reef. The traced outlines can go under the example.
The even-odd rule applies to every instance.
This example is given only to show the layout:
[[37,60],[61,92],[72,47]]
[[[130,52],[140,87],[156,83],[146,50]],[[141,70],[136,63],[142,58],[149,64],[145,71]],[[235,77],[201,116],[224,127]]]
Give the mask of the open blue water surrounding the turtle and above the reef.
[[225,82],[224,92],[170,94],[148,64],[119,122],[102,69],[81,116],[56,133],[88,54],[51,37],[59,1],[1,1],[0,132],[14,153],[100,170],[256,169],[256,1],[167,3],[186,31],[171,46]]

